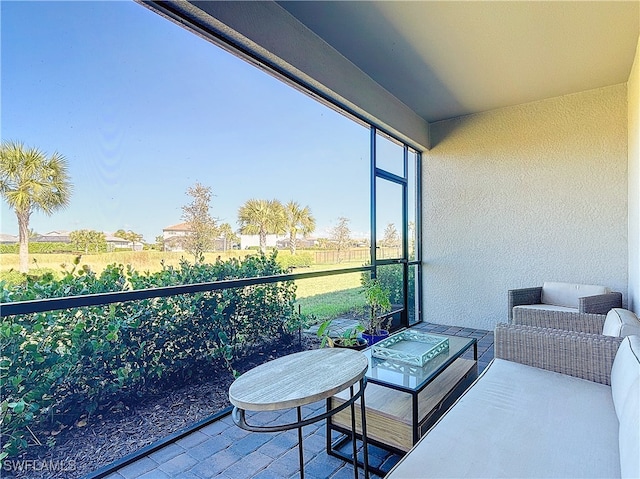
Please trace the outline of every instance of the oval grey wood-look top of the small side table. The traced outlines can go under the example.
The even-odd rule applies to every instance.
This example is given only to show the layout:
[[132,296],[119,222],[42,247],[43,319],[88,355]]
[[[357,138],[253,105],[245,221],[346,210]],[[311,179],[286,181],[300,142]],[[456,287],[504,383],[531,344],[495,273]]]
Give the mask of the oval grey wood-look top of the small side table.
[[244,373],[229,388],[234,406],[272,411],[326,399],[362,379],[369,363],[359,351],[323,348],[269,361]]

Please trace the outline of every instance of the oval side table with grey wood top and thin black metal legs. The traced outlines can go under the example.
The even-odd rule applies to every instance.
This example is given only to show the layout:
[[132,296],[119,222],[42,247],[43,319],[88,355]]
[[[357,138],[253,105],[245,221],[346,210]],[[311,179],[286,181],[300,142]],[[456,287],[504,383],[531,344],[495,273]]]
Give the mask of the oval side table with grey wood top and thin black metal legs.
[[[298,429],[298,456],[300,477],[304,478],[304,454],[302,428],[326,419],[351,407],[351,435],[353,442],[354,477],[358,477],[356,450],[355,402],[360,398],[362,421],[363,472],[369,477],[369,454],[365,418],[364,389],[367,358],[352,349],[324,348],[302,351],[269,361],[244,373],[229,388],[229,400],[233,404],[233,421],[241,428],[254,432],[279,432]],[[358,390],[354,385],[359,382]],[[345,403],[322,414],[303,419],[302,406],[350,389],[350,398]],[[248,424],[245,411],[297,410],[297,421],[273,426]]]

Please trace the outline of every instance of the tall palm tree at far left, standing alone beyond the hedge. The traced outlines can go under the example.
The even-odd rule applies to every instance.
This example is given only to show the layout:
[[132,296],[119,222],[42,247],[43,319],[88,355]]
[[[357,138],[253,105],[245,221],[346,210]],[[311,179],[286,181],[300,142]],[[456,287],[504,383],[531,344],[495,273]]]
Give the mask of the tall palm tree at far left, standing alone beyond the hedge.
[[69,204],[73,185],[67,160],[50,157],[20,142],[3,142],[0,147],[0,194],[18,218],[20,271],[29,270],[29,219],[34,211],[51,215]]

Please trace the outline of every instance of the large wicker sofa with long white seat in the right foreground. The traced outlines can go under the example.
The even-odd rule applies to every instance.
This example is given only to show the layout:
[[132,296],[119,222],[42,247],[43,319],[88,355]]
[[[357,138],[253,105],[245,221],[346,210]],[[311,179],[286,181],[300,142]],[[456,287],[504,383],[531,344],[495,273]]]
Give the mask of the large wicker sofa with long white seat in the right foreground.
[[640,477],[640,336],[500,324],[495,354],[388,479]]

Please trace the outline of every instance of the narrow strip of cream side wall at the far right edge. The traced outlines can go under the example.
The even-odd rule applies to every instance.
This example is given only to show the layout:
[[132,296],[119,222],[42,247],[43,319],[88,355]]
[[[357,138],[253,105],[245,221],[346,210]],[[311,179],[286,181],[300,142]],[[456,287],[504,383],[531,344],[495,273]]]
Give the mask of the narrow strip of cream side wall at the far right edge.
[[629,309],[640,314],[640,37],[627,82],[629,105]]

